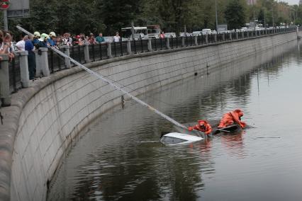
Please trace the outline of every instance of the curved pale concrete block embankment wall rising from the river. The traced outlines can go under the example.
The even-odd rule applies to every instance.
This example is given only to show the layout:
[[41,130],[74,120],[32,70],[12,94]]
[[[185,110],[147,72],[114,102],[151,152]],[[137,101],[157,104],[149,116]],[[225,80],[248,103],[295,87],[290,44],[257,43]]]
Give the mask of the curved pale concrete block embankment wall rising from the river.
[[[194,76],[195,72],[211,73],[220,64],[296,39],[296,32],[284,33],[206,47],[129,55],[87,66],[138,95]],[[121,93],[74,67],[35,81],[34,86],[14,94],[12,103],[3,110],[11,114],[7,132],[13,142],[12,167],[0,175],[4,178],[3,189],[10,185],[11,200],[45,200],[47,180],[52,178],[72,139],[91,120],[121,104]],[[2,190],[1,195],[5,193]]]

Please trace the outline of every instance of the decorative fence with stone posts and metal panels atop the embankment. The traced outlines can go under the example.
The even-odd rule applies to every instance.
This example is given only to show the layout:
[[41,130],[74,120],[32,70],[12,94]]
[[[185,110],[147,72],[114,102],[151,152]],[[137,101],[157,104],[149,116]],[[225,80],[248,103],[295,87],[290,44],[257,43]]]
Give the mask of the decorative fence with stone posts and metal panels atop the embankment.
[[[159,38],[147,40],[128,40],[121,42],[104,42],[96,45],[77,45],[60,47],[62,52],[77,60],[81,64],[96,62],[112,57],[123,57],[128,54],[142,54],[144,52],[155,52],[186,48],[201,45],[215,45],[220,42],[234,40],[246,40],[259,38],[265,35],[289,33],[302,28],[275,28],[267,30],[252,30],[245,32],[218,33],[211,35],[195,35],[177,38]],[[28,87],[28,59],[27,51],[16,52],[15,58],[9,62],[9,57],[3,54],[0,65],[0,98],[1,105],[10,105],[10,94],[19,88]],[[60,57],[47,48],[40,48],[35,52],[36,72],[35,76],[49,76],[57,71],[74,67],[69,59]]]

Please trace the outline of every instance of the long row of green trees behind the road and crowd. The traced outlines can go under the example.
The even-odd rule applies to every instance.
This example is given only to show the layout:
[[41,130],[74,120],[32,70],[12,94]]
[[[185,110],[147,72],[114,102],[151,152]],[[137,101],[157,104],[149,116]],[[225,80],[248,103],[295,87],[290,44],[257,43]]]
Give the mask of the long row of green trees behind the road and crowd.
[[276,0],[257,0],[252,6],[246,0],[30,0],[30,17],[10,19],[9,30],[21,24],[31,32],[114,35],[132,21],[135,26],[159,24],[165,32],[179,33],[184,26],[189,32],[215,29],[216,3],[218,24],[227,23],[229,29],[255,19],[269,26],[273,21],[274,25],[302,21],[302,6]]

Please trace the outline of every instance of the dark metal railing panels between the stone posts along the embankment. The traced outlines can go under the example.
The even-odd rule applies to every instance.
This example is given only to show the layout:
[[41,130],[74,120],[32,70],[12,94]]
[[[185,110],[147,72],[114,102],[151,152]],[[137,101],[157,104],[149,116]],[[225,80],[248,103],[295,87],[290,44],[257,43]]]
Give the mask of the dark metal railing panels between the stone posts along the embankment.
[[[299,28],[301,30],[301,28]],[[192,47],[196,45],[213,45],[219,42],[227,42],[230,40],[243,40],[247,38],[261,37],[264,35],[272,35],[279,33],[288,33],[296,31],[296,28],[275,28],[267,30],[249,30],[245,32],[233,33],[218,33],[210,35],[197,35],[177,38],[152,38],[152,39],[138,39],[121,42],[104,42],[96,45],[89,45],[89,62],[96,62],[101,59],[109,59],[111,57],[123,57],[128,54],[138,54],[149,52],[148,42],[152,51],[176,49],[179,47]],[[169,40],[169,42],[167,41]],[[184,41],[183,41],[184,40]],[[129,44],[128,44],[129,42]],[[169,44],[169,46],[168,46]],[[111,57],[108,55],[108,46],[111,46]],[[128,45],[130,48],[128,48]],[[130,52],[129,52],[130,50]],[[70,47],[70,57],[77,60],[77,62],[86,63],[84,58],[83,46]],[[48,53],[50,72],[60,71],[66,69],[65,63],[62,59],[57,58],[55,53]]]

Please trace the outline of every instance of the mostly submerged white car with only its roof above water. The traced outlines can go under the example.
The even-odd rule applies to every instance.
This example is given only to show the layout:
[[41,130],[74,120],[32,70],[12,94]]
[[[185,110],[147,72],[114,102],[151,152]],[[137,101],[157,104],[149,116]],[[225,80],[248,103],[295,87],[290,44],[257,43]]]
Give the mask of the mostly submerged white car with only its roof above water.
[[164,134],[160,139],[160,142],[167,145],[175,145],[175,144],[188,144],[191,142],[197,142],[203,139],[202,137],[197,137],[191,134],[183,134],[179,132],[170,132],[168,134]]

